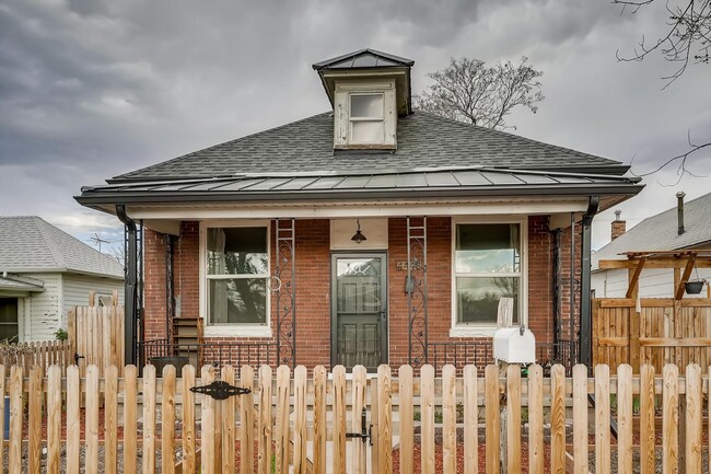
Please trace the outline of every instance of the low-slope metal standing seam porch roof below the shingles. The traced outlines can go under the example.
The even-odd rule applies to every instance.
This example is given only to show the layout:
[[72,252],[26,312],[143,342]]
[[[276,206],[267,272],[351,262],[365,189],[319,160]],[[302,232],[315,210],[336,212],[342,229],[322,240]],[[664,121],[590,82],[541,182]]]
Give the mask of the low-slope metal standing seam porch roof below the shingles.
[[[609,175],[575,175],[571,173],[544,173],[535,171],[500,169],[450,169],[413,170],[389,173],[342,173],[296,175],[240,175],[229,178],[184,181],[156,181],[116,183],[82,188],[82,204],[90,204],[92,196],[98,201],[139,199],[143,201],[171,201],[184,199],[205,200],[214,198],[279,199],[300,197],[338,197],[399,195],[436,196],[447,193],[468,192],[475,195],[515,194],[587,194],[637,193],[639,178]],[[283,196],[282,196],[283,195]]]

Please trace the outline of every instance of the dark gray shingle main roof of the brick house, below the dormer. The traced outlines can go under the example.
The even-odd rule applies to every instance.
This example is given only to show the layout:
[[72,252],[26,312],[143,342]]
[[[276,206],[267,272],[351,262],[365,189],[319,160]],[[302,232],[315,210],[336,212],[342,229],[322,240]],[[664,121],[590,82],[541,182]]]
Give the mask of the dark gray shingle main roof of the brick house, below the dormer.
[[294,171],[375,174],[475,165],[569,171],[580,167],[590,173],[587,170],[620,163],[422,112],[398,119],[394,153],[334,153],[334,119],[329,112],[126,173],[110,182]]

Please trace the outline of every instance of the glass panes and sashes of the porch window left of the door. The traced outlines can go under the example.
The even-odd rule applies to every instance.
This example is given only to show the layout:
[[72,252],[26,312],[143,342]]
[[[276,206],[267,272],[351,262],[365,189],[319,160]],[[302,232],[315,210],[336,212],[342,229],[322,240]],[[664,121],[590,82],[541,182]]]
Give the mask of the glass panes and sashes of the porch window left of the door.
[[210,325],[268,325],[268,227],[206,229],[206,294]]

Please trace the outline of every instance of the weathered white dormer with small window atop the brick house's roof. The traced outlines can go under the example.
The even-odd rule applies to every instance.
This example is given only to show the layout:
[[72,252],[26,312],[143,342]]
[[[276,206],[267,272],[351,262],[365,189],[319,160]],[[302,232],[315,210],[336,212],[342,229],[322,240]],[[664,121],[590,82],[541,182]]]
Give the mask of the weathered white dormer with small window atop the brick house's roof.
[[412,109],[411,59],[361,49],[315,63],[334,107],[335,150],[395,150],[397,117]]

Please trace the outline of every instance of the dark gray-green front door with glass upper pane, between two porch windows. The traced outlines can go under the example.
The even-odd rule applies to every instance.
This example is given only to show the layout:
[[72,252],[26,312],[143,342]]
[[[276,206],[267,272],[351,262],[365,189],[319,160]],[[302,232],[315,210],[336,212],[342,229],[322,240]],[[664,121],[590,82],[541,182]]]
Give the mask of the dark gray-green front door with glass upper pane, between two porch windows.
[[387,363],[385,254],[331,257],[331,362],[375,371]]

